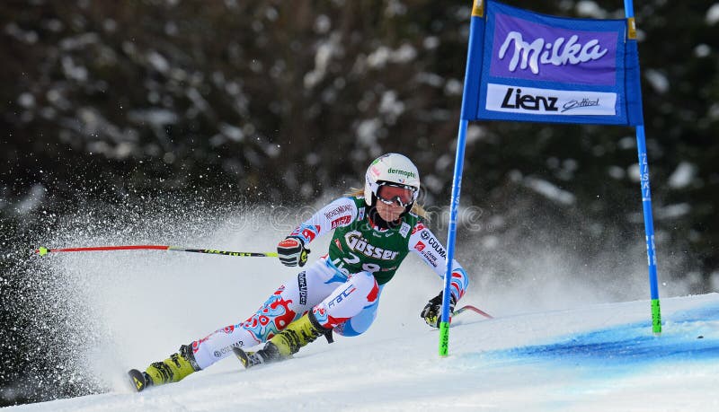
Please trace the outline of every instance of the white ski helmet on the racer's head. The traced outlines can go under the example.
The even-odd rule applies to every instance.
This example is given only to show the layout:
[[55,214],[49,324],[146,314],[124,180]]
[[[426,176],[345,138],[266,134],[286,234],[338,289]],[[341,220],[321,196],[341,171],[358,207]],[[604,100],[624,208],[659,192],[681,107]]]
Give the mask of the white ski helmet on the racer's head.
[[420,171],[404,154],[383,154],[369,164],[365,173],[365,203],[368,206],[372,206],[377,189],[383,184],[410,188],[414,203],[420,194]]

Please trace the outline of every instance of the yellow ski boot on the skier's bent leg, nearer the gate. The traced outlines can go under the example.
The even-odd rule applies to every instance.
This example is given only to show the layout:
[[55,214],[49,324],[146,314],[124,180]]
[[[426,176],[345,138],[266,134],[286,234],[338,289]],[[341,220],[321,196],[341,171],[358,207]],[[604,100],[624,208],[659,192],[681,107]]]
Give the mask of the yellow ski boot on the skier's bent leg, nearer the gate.
[[270,364],[287,359],[296,354],[300,347],[315,341],[317,337],[327,336],[329,333],[332,333],[332,329],[320,325],[315,314],[309,311],[272,337],[257,352],[245,352],[239,347],[233,347],[232,351],[245,368],[251,368],[258,364]]

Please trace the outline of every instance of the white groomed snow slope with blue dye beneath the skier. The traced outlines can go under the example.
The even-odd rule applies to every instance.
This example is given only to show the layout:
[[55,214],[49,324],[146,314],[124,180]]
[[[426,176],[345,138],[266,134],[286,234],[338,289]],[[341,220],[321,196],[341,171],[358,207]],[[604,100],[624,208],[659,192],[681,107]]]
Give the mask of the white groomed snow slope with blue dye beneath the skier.
[[111,393],[16,409],[719,410],[719,294],[665,299],[662,310],[661,336],[648,302],[494,320],[465,312],[448,358],[437,355],[436,331],[405,319],[401,333],[317,341],[249,372],[228,358],[141,394],[117,376]]

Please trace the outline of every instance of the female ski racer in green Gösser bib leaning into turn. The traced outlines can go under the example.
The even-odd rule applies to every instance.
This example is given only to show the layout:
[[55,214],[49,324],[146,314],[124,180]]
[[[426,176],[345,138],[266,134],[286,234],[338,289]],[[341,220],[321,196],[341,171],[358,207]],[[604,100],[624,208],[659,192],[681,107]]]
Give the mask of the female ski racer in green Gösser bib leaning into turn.
[[[383,287],[410,251],[443,278],[446,251],[423,224],[424,210],[415,203],[419,190],[419,171],[407,157],[377,158],[368,167],[364,190],[324,206],[277,246],[284,265],[302,267],[310,242],[333,232],[328,254],[281,285],[244,322],[182,345],[144,373],[130,371],[136,388],[180,381],[232,352],[248,368],[285,359],[323,335],[332,342],[332,332],[357,336],[375,320]],[[467,284],[465,270],[454,260],[450,313]],[[441,302],[440,293],[420,314],[434,328]],[[256,352],[244,350],[263,342]]]

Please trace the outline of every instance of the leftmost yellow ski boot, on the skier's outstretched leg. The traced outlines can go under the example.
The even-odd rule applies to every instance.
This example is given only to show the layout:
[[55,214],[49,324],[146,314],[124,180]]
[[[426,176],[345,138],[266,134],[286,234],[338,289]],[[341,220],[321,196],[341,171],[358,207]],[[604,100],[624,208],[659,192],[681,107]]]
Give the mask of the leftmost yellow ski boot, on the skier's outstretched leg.
[[128,374],[133,386],[140,392],[148,386],[182,381],[189,374],[197,371],[200,371],[200,367],[195,362],[191,346],[182,345],[177,353],[170,355],[164,361],[147,366],[145,372],[132,369]]

